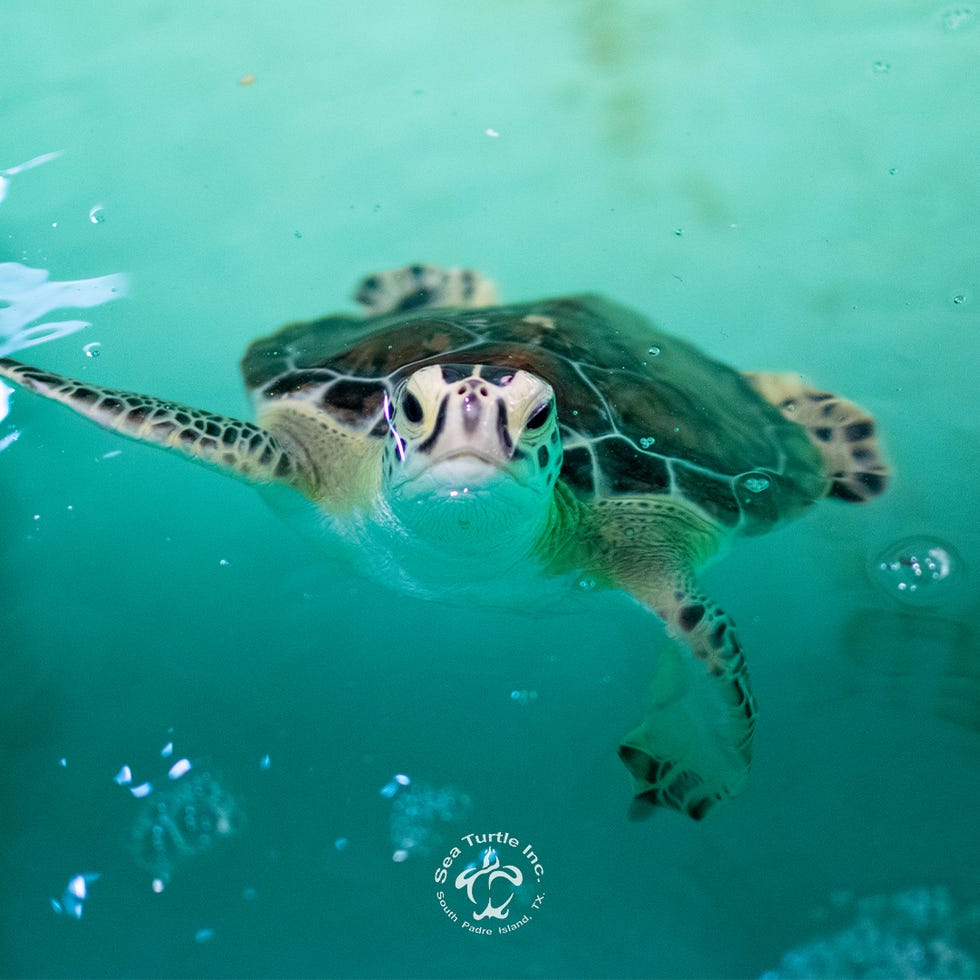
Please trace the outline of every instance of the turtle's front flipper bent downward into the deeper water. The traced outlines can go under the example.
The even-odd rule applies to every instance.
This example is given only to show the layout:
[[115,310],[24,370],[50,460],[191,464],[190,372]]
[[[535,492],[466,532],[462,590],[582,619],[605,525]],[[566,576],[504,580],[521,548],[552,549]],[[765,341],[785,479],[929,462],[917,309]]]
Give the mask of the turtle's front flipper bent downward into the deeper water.
[[609,500],[594,521],[589,560],[677,641],[657,663],[646,717],[619,748],[634,780],[631,815],[664,806],[700,820],[744,785],[756,717],[734,624],[695,584],[720,532],[667,498]]

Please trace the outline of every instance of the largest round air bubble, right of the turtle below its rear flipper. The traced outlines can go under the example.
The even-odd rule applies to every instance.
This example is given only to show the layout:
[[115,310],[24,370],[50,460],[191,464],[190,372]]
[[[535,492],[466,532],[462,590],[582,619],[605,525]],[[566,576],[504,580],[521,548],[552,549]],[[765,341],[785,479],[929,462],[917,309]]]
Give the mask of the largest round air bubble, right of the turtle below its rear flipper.
[[938,538],[905,538],[889,545],[871,564],[871,575],[888,595],[915,606],[945,602],[964,572],[952,545]]

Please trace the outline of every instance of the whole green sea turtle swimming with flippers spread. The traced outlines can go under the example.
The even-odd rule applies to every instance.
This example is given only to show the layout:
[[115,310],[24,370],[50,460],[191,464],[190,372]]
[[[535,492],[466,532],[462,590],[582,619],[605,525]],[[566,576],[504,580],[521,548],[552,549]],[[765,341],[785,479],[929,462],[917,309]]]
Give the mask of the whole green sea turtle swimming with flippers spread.
[[297,491],[388,584],[474,601],[545,580],[629,593],[683,644],[661,653],[619,748],[632,808],[700,819],[745,781],[756,705],[698,570],[822,497],[880,494],[871,418],[799,375],[740,374],[596,295],[501,305],[471,270],[414,265],[368,276],[356,299],[363,316],[251,344],[258,424],[9,359],[0,374]]

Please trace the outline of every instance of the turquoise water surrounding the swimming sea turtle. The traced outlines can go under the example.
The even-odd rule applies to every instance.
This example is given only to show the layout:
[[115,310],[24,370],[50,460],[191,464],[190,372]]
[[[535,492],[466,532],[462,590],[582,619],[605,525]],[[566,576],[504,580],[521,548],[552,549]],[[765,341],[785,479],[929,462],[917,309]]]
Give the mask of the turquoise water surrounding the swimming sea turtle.
[[[467,264],[800,370],[875,414],[896,477],[710,571],[762,711],[751,782],[701,824],[630,823],[615,747],[665,641],[628,602],[530,618],[386,593],[248,486],[16,393],[0,974],[799,975],[780,961],[816,974],[824,937],[833,975],[861,942],[895,966],[902,929],[980,956],[980,11],[202,7],[4,5],[0,170],[61,153],[4,177],[0,261],[128,282],[40,315],[90,325],[25,359],[241,415],[252,337],[350,308],[365,272]],[[912,536],[961,561],[903,604],[868,569]],[[185,757],[220,787],[195,819],[228,832],[185,822],[161,871],[134,828],[154,801],[186,821]],[[507,935],[435,897],[485,832],[543,867]],[[929,914],[896,925],[914,889]],[[877,938],[847,933],[862,915]]]

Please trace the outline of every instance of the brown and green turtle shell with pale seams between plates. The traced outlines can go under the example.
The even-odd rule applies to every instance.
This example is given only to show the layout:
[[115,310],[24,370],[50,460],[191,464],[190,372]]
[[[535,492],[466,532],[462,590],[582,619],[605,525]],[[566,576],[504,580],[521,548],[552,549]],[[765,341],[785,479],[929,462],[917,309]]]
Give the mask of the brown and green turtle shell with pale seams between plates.
[[599,296],[289,324],[242,360],[257,408],[314,401],[383,438],[383,400],[427,364],[530,371],[557,397],[561,479],[581,499],[675,494],[760,533],[826,490],[805,430],[733,369]]

